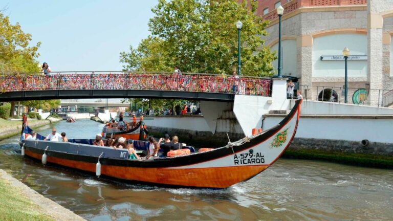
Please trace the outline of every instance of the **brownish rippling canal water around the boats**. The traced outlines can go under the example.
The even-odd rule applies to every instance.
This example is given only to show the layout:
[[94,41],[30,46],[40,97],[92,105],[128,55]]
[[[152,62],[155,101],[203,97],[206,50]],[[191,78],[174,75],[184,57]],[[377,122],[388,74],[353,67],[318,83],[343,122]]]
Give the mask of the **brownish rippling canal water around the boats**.
[[[103,124],[61,121],[69,138],[94,138]],[[20,157],[18,137],[0,142],[0,168],[88,220],[392,220],[393,170],[279,159],[225,190],[133,185]]]

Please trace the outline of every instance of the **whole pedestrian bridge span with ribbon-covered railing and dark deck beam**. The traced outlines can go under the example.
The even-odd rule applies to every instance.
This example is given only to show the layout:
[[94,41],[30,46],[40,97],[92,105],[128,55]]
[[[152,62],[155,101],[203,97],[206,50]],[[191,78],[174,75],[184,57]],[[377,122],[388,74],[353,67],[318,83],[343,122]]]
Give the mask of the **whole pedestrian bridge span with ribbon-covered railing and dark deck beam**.
[[0,102],[77,98],[165,98],[233,102],[235,94],[271,96],[271,84],[271,78],[213,74],[20,74],[0,77]]

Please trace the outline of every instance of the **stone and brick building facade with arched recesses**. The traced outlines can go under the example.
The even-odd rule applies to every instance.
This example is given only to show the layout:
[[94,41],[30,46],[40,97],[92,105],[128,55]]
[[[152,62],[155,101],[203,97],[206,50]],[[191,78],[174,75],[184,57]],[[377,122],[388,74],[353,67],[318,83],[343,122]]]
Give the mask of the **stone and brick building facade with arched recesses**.
[[279,5],[282,75],[298,79],[308,99],[343,102],[347,47],[348,103],[393,103],[393,0],[258,0],[257,14],[270,21],[264,38],[272,50]]

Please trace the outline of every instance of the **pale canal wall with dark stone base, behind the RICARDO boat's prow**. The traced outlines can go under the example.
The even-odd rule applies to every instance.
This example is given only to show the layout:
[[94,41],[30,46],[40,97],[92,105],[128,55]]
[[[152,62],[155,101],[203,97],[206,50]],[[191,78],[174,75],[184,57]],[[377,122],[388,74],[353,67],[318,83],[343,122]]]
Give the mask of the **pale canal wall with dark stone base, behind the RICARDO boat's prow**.
[[[283,117],[265,115],[263,129],[276,125]],[[392,127],[393,115],[300,115],[290,149],[393,157]]]

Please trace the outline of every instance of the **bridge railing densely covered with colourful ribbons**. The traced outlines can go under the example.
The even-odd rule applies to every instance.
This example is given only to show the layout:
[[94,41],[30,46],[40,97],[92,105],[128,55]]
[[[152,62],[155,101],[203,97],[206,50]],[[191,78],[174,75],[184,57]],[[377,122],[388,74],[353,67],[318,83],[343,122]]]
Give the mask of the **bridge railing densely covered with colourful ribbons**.
[[213,74],[57,73],[0,76],[3,92],[47,90],[159,90],[270,96],[271,79]]

